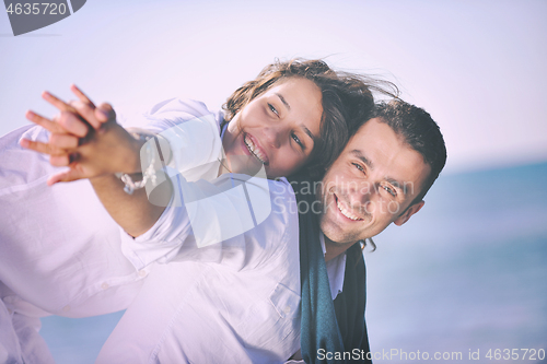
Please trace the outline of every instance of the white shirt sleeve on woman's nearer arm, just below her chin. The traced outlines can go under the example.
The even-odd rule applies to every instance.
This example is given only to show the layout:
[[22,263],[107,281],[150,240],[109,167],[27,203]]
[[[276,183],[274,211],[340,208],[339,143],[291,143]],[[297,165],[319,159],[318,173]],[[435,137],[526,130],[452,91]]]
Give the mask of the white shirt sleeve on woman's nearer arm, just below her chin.
[[137,269],[171,260],[228,262],[234,269],[261,261],[257,255],[276,250],[270,245],[284,235],[295,204],[284,178],[225,174],[188,183],[178,175],[174,186],[172,203],[147,233],[121,234],[121,250]]

